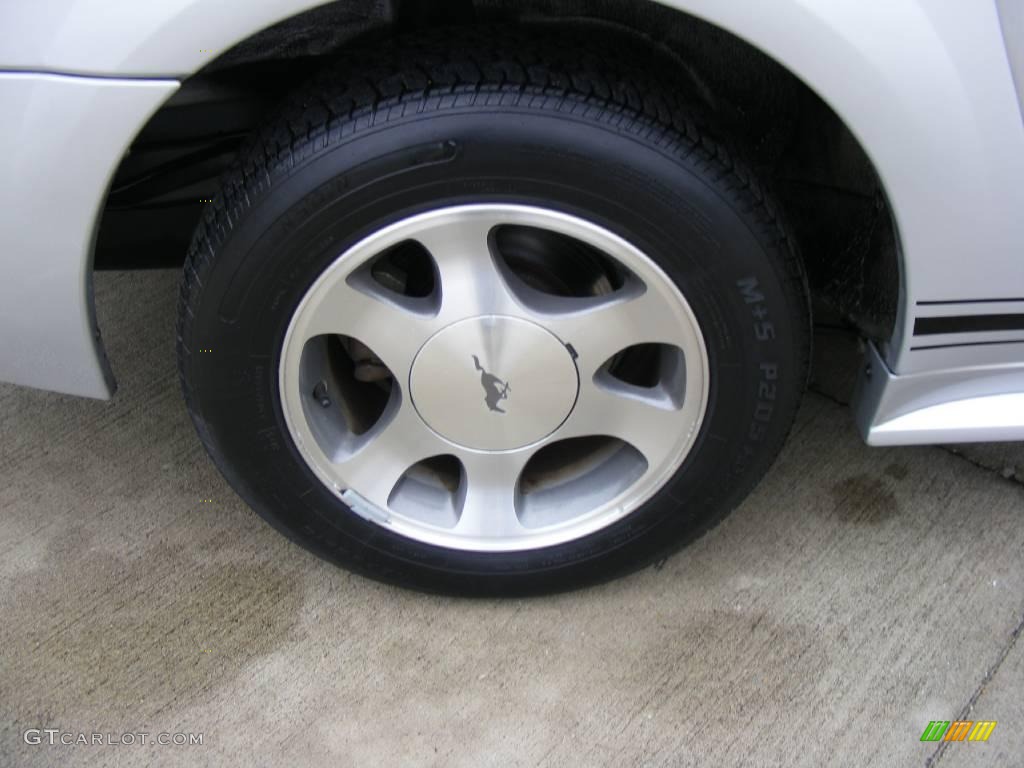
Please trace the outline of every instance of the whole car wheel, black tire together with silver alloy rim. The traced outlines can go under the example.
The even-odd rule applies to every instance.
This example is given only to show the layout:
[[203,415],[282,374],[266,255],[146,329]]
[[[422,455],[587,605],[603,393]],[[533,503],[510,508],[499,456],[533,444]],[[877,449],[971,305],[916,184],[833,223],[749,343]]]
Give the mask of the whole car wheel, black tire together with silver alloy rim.
[[800,261],[638,60],[400,41],[242,153],[187,258],[179,365],[276,528],[420,589],[558,590],[665,557],[767,469],[807,373]]

